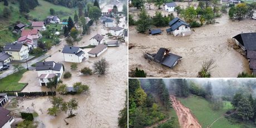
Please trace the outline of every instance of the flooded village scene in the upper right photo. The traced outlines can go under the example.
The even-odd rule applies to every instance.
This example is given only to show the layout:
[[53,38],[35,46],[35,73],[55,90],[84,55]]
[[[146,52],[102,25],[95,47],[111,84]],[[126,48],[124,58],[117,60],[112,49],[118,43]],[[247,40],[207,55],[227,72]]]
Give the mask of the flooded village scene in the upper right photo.
[[[226,3],[219,3],[220,1],[216,2],[216,4],[210,3],[210,7],[213,8],[213,6],[216,5],[221,8],[221,6],[227,5],[229,9],[228,4],[232,4],[230,1]],[[195,10],[200,6],[199,3],[200,2],[194,1],[175,2],[174,7],[179,6],[181,9],[185,9],[190,5],[190,7],[193,7]],[[167,7],[167,4],[163,5]],[[216,13],[219,16],[214,16],[214,23],[206,23],[205,21],[200,27],[191,27],[191,23],[186,24],[185,22],[188,21],[188,19],[184,20],[182,14],[178,16],[174,7],[172,11],[170,11],[171,7],[168,8],[169,11],[167,11],[166,7],[163,5],[161,4],[161,9],[159,9],[154,3],[145,2],[144,8],[146,14],[149,15],[149,18],[151,18],[153,22],[154,17],[156,17],[156,12],[161,12],[163,17],[170,17],[172,13],[173,18],[180,18],[179,22],[184,22],[184,25],[180,25],[179,22],[175,23],[175,25],[170,25],[170,22],[173,21],[169,19],[169,25],[166,27],[151,25],[149,27],[151,32],[155,30],[159,31],[159,33],[153,34],[150,34],[149,29],[144,33],[139,33],[136,29],[136,23],[135,25],[130,25],[129,76],[131,76],[131,72],[135,71],[135,68],[139,68],[139,70],[144,70],[147,77],[198,77],[203,63],[209,60],[214,61],[214,68],[210,71],[210,77],[238,77],[238,74],[242,72],[252,74],[253,69],[250,65],[253,64],[249,62],[246,52],[241,48],[237,48],[238,43],[236,44],[236,42],[238,41],[235,41],[233,37],[240,33],[255,33],[255,19],[249,17],[244,17],[241,20],[230,19],[229,13],[219,11]],[[129,16],[132,16],[134,22],[140,19],[139,14],[140,9],[134,6],[129,7]],[[200,17],[203,17],[203,14],[198,15],[199,16],[194,17],[195,21],[199,22],[200,25]],[[170,27],[175,28],[175,26],[184,26],[184,28],[180,27],[181,31],[183,31],[181,32],[183,33],[182,35],[177,36],[169,31]],[[179,27],[175,29],[179,29]],[[191,33],[186,35],[186,29],[189,29]],[[251,36],[250,38],[253,40],[255,37]],[[164,65],[164,60],[162,60],[162,63],[157,63],[145,58],[145,53],[156,53],[157,55],[157,51],[159,51],[160,48],[166,48],[171,54],[178,55],[182,58],[180,58],[177,63],[172,63],[175,64],[174,67]],[[176,58],[176,60],[178,59]],[[175,60],[170,59],[170,61]]]

